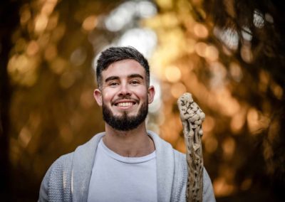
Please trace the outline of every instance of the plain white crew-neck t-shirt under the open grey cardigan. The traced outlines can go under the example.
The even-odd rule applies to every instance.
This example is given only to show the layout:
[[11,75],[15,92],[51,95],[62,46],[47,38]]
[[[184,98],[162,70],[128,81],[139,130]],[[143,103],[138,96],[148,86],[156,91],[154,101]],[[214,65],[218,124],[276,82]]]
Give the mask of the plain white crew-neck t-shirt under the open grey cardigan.
[[156,154],[125,157],[101,139],[95,154],[88,202],[157,201]]

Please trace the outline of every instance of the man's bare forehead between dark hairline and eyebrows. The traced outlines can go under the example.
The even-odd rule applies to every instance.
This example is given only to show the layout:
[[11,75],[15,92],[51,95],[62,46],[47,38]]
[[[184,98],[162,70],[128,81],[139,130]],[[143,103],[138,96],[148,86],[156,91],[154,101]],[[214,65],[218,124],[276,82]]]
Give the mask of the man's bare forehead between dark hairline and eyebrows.
[[128,77],[128,75],[139,74],[145,79],[145,68],[138,63],[136,60],[120,60],[112,63],[102,71],[102,78],[108,78],[110,76],[115,76],[119,78]]

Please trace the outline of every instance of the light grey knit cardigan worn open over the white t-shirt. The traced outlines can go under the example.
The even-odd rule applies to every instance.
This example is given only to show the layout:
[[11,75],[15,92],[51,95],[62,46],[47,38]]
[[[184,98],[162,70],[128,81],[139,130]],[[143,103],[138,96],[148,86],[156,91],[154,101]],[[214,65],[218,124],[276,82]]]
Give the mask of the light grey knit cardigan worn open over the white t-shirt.
[[[187,164],[185,154],[172,149],[154,132],[147,131],[155,143],[157,158],[157,201],[185,201]],[[95,151],[104,133],[58,158],[41,183],[38,201],[87,201]],[[203,201],[215,201],[212,183],[204,169]],[[112,191],[110,191],[112,194]]]

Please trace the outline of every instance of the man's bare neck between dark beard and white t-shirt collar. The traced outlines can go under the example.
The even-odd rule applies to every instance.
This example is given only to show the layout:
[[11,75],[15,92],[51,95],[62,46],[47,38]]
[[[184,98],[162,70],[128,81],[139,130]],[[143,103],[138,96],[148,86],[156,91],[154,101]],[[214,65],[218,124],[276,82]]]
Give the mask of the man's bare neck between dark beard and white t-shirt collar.
[[121,156],[139,157],[155,151],[155,144],[147,135],[145,122],[130,131],[118,131],[105,124],[103,142]]

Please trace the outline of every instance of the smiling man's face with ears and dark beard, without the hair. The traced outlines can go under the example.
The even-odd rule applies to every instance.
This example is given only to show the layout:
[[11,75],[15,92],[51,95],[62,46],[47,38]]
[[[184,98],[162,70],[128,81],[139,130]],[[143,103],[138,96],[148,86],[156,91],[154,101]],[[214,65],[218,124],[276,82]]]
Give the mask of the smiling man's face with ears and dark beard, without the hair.
[[94,92],[105,122],[121,131],[135,129],[145,121],[154,95],[154,87],[147,88],[145,69],[135,60],[109,65],[102,72],[100,90]]

